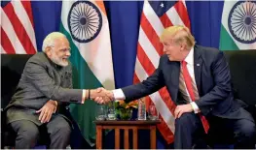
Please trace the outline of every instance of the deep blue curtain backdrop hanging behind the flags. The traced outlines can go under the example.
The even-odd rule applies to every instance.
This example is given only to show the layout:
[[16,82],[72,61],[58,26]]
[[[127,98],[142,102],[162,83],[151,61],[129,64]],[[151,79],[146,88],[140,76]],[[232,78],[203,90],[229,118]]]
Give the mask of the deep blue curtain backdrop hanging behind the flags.
[[[120,88],[132,84],[143,1],[106,1],[104,4],[110,24],[116,88]],[[197,44],[218,48],[223,4],[223,1],[186,2]],[[33,1],[32,11],[37,47],[41,51],[45,36],[59,29],[61,1]],[[78,139],[79,132],[76,134],[76,147],[86,148],[83,138]],[[142,140],[148,143],[148,133],[143,133],[142,136],[139,143],[144,142]],[[106,137],[106,141],[113,139],[113,133]],[[106,148],[114,148],[112,143],[114,142],[105,142]],[[165,146],[160,135],[158,146]]]

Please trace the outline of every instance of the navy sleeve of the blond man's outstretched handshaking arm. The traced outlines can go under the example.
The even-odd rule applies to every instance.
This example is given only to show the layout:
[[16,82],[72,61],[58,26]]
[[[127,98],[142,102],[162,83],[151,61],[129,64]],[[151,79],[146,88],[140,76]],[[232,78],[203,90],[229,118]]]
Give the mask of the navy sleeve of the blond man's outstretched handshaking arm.
[[150,95],[165,86],[165,79],[160,66],[146,80],[122,88],[126,96],[126,103]]

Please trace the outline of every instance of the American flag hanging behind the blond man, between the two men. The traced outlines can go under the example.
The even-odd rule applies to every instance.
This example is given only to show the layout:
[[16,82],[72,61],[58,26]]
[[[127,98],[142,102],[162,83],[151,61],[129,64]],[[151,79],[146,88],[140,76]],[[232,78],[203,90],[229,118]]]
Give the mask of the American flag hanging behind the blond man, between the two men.
[[[185,25],[190,28],[189,15],[185,1],[144,1],[140,20],[137,56],[133,82],[137,83],[152,75],[158,68],[160,57],[164,54],[160,36],[165,27]],[[166,88],[146,97],[146,105],[156,105],[162,123],[158,129],[167,143],[174,139],[174,109]]]

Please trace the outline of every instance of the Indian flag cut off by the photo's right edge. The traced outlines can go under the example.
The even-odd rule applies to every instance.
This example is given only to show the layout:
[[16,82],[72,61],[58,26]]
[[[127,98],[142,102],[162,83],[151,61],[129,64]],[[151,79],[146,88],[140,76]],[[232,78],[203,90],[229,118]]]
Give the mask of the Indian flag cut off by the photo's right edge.
[[225,1],[222,13],[220,50],[256,49],[256,3]]

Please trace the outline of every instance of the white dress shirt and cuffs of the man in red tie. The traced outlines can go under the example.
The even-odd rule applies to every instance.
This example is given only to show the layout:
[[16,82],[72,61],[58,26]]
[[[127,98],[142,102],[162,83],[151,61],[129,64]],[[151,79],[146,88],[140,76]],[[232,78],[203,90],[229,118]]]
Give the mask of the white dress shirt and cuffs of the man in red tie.
[[[195,79],[195,74],[194,74],[194,47],[192,47],[192,49],[190,50],[189,54],[185,58],[185,61],[187,62],[187,69],[189,71],[189,74],[191,75],[193,82],[196,84],[196,79]],[[185,84],[185,82],[184,82],[184,84]],[[113,90],[112,92],[114,94],[115,100],[118,101],[118,100],[126,99],[126,96],[125,96],[124,92],[122,91],[122,89],[116,89],[116,90]],[[195,113],[200,112],[199,106],[195,102],[192,102],[187,88],[186,88],[186,92],[184,92],[184,93],[189,97],[189,101],[194,109],[194,112]]]

